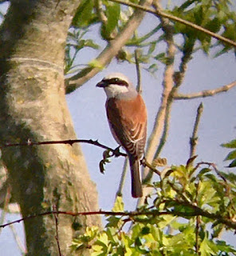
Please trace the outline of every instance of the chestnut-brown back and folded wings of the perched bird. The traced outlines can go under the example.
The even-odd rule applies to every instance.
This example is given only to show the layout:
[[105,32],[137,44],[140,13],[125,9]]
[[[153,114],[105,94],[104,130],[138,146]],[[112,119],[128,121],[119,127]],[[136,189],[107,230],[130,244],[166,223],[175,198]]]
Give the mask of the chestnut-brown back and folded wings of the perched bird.
[[108,122],[116,141],[128,154],[144,154],[147,133],[147,110],[140,94],[134,99],[109,98]]

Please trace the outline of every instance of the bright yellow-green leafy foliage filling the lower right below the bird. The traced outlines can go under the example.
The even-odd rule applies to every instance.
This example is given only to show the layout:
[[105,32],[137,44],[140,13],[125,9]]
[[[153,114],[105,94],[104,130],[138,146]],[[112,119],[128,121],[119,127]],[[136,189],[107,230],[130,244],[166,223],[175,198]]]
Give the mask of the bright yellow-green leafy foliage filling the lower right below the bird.
[[[108,216],[104,230],[92,226],[74,239],[72,250],[91,248],[91,255],[236,255],[220,240],[222,230],[234,230],[236,179],[210,163],[172,166],[155,193],[136,212]],[[202,167],[202,168],[201,168]],[[123,212],[117,197],[113,212]],[[132,223],[129,230],[127,223]],[[127,231],[124,231],[127,230]]]

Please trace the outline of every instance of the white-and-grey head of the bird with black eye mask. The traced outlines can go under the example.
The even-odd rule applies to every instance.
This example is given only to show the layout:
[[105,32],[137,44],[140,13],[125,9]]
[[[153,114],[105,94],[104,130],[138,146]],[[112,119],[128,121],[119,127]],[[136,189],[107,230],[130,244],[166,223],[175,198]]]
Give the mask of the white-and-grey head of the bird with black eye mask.
[[132,83],[121,73],[108,74],[96,86],[104,88],[108,98],[128,98],[137,94]]

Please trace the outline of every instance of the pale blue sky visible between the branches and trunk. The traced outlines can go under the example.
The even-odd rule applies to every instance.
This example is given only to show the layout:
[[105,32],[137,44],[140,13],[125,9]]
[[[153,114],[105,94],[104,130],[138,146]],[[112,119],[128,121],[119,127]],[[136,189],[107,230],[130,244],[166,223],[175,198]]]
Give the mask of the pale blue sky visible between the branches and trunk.
[[[148,26],[150,24],[156,26],[158,20],[148,14],[148,18],[140,27],[140,33],[145,32],[147,24]],[[81,51],[79,56],[81,63],[92,60],[96,57],[96,54],[95,50]],[[193,93],[200,90],[214,89],[233,82],[236,80],[235,64],[233,52],[218,58],[207,57],[205,54],[198,52],[189,63],[180,92]],[[100,143],[115,149],[117,144],[110,133],[104,109],[106,96],[103,90],[96,88],[96,83],[105,74],[113,71],[127,75],[136,84],[136,67],[128,64],[118,64],[113,61],[106,70],[97,74],[80,89],[67,95],[66,98],[77,138],[97,139]],[[143,97],[148,108],[148,134],[150,134],[161,98],[163,67],[160,66],[156,78],[151,77],[145,70],[142,70],[141,75],[144,90]],[[195,122],[196,110],[199,103],[203,102],[204,110],[199,124],[199,144],[197,146],[199,157],[196,161],[214,162],[221,170],[223,168],[227,170],[225,167],[227,162],[222,161],[229,150],[222,148],[220,144],[235,138],[235,98],[236,88],[210,98],[175,102],[171,111],[169,136],[160,157],[167,158],[169,165],[179,165],[187,162],[190,149],[189,138]],[[85,154],[92,181],[96,183],[100,209],[111,210],[119,186],[124,158],[113,158],[112,162],[105,166],[105,174],[100,174],[99,162],[102,159],[103,150],[87,144],[82,144],[81,147]],[[131,197],[129,170],[123,193],[125,209],[134,210],[136,199]],[[7,214],[6,217],[7,220],[15,218],[19,218],[19,216]],[[20,232],[20,237],[23,238],[22,223],[15,226]],[[227,235],[226,240],[234,242],[235,238]],[[235,242],[234,245],[236,245]],[[16,249],[16,243],[9,228],[2,230],[2,234],[0,234],[0,252],[2,250],[5,251],[6,256],[21,255]]]

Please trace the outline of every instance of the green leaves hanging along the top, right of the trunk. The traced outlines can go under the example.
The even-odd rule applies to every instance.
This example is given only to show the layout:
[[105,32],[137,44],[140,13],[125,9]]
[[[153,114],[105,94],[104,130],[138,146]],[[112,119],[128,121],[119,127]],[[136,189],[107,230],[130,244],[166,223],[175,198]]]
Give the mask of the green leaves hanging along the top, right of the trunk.
[[[139,3],[137,0],[131,2]],[[232,9],[233,7],[229,0],[187,0],[180,6],[171,6],[166,11],[176,17],[202,26],[211,32],[221,34],[226,38],[236,41],[236,14]],[[99,48],[94,36],[82,39],[81,35],[87,34],[89,29],[97,24],[100,26],[100,38],[105,42],[109,42],[120,33],[120,30],[123,29],[131,18],[132,13],[132,8],[121,6],[108,0],[81,1],[77,14],[73,18],[73,33],[69,34],[66,46],[65,74],[77,71],[75,69],[77,66],[73,66],[73,63],[79,50],[81,50],[81,46],[93,49]],[[156,20],[158,24],[158,19]],[[186,54],[195,53],[197,50],[203,50],[205,54],[210,54],[210,50],[215,49],[214,56],[217,57],[233,49],[232,46],[219,41],[215,42],[209,35],[179,22],[171,22],[170,24],[173,26],[176,42],[179,42],[180,36],[183,38],[181,45],[178,46],[178,50],[180,54],[183,54],[183,58]],[[126,43],[126,46],[117,54],[116,59],[120,62],[134,63],[134,47],[139,47],[139,62],[144,70],[155,74],[156,70],[159,69],[159,65],[165,65],[168,60],[161,45],[165,42],[163,27],[161,23],[157,26],[153,25],[149,24],[146,34],[139,35],[138,32],[133,34],[132,38]],[[99,38],[99,34],[97,38]],[[74,42],[73,44],[71,40]]]

